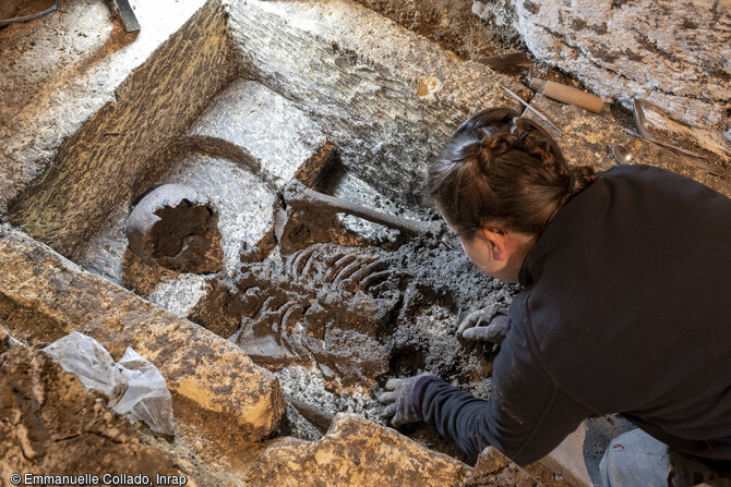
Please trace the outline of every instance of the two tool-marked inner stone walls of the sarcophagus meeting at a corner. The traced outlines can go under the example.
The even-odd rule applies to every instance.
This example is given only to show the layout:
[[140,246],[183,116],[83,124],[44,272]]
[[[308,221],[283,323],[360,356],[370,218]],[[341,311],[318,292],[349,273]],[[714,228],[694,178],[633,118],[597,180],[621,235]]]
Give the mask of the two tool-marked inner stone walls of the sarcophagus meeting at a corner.
[[[335,28],[338,21],[359,24],[344,19],[353,9],[364,25]],[[309,29],[308,16],[325,32]],[[339,2],[207,2],[116,89],[115,102],[61,145],[10,208],[11,222],[73,256],[121,202],[168,169],[173,137],[235,76],[262,83],[317,120],[356,175],[421,204],[423,171],[453,127],[480,106],[514,101],[494,84],[464,88],[490,75],[486,68],[464,65],[393,23],[383,38],[373,28],[381,24],[374,12]]]

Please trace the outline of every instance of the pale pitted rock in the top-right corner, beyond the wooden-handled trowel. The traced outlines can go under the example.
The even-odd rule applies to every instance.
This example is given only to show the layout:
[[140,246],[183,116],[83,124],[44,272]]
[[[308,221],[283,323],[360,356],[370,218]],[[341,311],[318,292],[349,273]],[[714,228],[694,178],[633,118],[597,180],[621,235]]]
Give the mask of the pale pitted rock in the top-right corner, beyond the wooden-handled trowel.
[[704,146],[731,154],[731,3],[663,1],[475,1],[506,22],[539,59],[631,107],[649,100],[683,122]]

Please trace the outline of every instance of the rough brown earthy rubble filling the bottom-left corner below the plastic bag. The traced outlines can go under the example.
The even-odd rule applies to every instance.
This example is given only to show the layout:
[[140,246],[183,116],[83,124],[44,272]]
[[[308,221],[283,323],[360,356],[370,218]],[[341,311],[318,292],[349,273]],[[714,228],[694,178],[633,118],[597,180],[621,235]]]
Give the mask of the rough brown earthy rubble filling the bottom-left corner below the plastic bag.
[[[101,392],[86,389],[81,383],[79,377],[63,370],[61,366],[58,363],[55,363],[50,355],[45,352],[25,348],[22,343],[14,340],[2,325],[0,325],[0,357],[13,362],[19,361],[20,358],[20,361],[29,366],[29,368],[22,372],[22,376],[20,377],[12,374],[8,376],[8,370],[0,369],[0,382],[9,380],[13,388],[20,386],[21,388],[25,388],[26,392],[28,392],[29,389],[34,394],[31,400],[34,402],[35,407],[32,406],[31,411],[24,411],[23,413],[36,421],[40,419],[39,423],[36,423],[35,421],[31,422],[33,427],[38,428],[31,433],[31,438],[28,438],[27,416],[24,422],[16,425],[19,429],[16,430],[17,435],[15,438],[13,438],[12,435],[10,438],[3,437],[3,442],[0,445],[0,455],[3,453],[8,455],[10,453],[10,456],[3,459],[5,461],[10,459],[10,462],[5,463],[4,461],[0,461],[0,479],[10,478],[11,474],[23,474],[25,472],[34,475],[96,474],[101,477],[105,474],[120,474],[121,472],[107,471],[109,466],[112,466],[113,468],[119,465],[123,470],[131,468],[132,471],[128,472],[131,475],[146,474],[151,478],[155,478],[155,475],[157,474],[184,475],[187,477],[185,485],[200,485],[196,479],[196,472],[181,467],[166,452],[156,446],[151,445],[148,441],[145,441],[145,439],[140,436],[139,430],[134,428],[123,415],[106,405],[107,401],[106,399],[103,399],[104,394]],[[15,363],[15,365],[17,365],[17,363]],[[14,372],[17,374],[17,368],[15,368]],[[56,381],[48,382],[48,376],[39,376],[39,374],[44,374],[44,372],[58,374],[52,378]],[[31,382],[29,387],[27,386],[28,382]],[[58,393],[60,391],[67,391],[67,397],[59,398],[56,394],[49,393]],[[19,392],[20,391],[15,391],[15,393]],[[67,406],[70,405],[69,401],[72,401],[74,405],[81,403],[87,406],[82,410],[86,413],[86,416],[82,418],[75,416],[79,422],[85,422],[86,427],[71,438],[59,438],[58,434],[63,430],[65,424],[59,423],[58,419],[52,422],[55,416],[46,415],[43,411],[44,406],[49,401],[55,402],[59,399],[65,401],[64,404]],[[12,400],[10,404],[13,404]],[[15,404],[15,406],[17,406],[17,404]],[[9,419],[10,424],[12,424],[15,418]],[[49,425],[44,419],[51,419],[51,424]],[[88,423],[89,419],[93,422],[91,425]],[[3,426],[9,427],[9,424]],[[106,428],[100,431],[98,430],[100,426],[105,426]],[[0,429],[2,429],[1,426]],[[115,454],[115,456],[105,456],[103,459],[105,465],[99,465],[98,458],[93,458],[96,451],[88,451],[88,448],[91,448],[89,443],[80,443],[79,437],[85,437],[87,439],[96,438],[105,442],[107,450],[117,450],[107,452],[108,454]],[[38,471],[39,466],[49,466],[48,462],[45,461],[47,449],[51,449],[51,446],[56,446],[59,441],[67,439],[73,440],[73,446],[71,448],[74,449],[74,456],[71,459],[67,456],[68,445],[65,447],[56,447],[53,451],[57,455],[61,451],[65,452],[64,465],[55,466],[56,468],[61,468],[62,472]],[[40,447],[40,451],[38,451],[38,446]],[[19,451],[21,454],[13,455],[13,453],[17,453]],[[88,470],[83,473],[69,471],[69,465],[65,464],[69,460],[75,462],[72,465],[77,467],[81,463],[81,466],[85,465]],[[0,485],[4,486],[5,484],[1,484],[1,482],[2,480],[0,480]]]

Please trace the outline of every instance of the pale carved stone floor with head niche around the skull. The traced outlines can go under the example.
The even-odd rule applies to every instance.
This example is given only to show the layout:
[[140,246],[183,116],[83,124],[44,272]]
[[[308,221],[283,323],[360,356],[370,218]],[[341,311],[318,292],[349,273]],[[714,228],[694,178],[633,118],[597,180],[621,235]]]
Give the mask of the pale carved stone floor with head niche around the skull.
[[[220,217],[217,227],[221,231],[224,270],[229,277],[237,267],[242,246],[267,251],[260,241],[266,239],[271,229],[275,192],[284,178],[293,176],[314,186],[336,160],[334,146],[324,143],[316,125],[291,102],[243,80],[233,82],[214,99],[191,129],[191,135],[176,141],[169,150],[163,150],[164,161],[157,160],[170,169],[158,181],[147,184],[185,184],[209,195]],[[135,193],[145,191],[145,186],[135,187]],[[170,272],[156,263],[149,265],[151,258],[141,259],[129,253],[129,239],[122,227],[130,207],[130,202],[120,205],[100,231],[77,252],[76,261],[179,316],[188,316],[195,306],[191,318],[217,330],[218,334],[228,333],[225,334],[228,337],[229,328],[231,332],[238,329],[238,324],[226,324],[226,318],[207,311],[218,306],[216,309],[223,312],[219,306],[227,301],[204,300],[196,305],[203,294],[191,292],[191,283],[195,281],[194,289],[207,285],[211,291],[206,280]],[[130,248],[140,247],[139,243],[130,244]],[[152,256],[152,251],[147,254]],[[215,264],[216,259],[208,260]],[[205,261],[194,268],[176,269],[217,270]]]

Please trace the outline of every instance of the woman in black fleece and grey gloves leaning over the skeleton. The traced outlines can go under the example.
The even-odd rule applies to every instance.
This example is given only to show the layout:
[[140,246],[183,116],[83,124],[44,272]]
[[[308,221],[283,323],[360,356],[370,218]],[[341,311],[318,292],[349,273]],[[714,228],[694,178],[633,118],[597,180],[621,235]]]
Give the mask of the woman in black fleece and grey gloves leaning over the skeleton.
[[459,330],[504,338],[490,398],[429,374],[392,379],[392,425],[424,421],[524,465],[583,419],[622,413],[637,429],[609,445],[607,486],[731,485],[729,198],[649,166],[568,167],[508,109],[456,131],[429,191],[453,243],[523,291],[507,316]]

